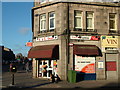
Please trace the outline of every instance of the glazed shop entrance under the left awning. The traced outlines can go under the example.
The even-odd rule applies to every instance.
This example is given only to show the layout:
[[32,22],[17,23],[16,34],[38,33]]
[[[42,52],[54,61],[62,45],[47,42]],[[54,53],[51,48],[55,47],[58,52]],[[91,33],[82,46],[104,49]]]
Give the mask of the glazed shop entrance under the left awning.
[[56,74],[57,60],[39,60],[38,77],[50,78],[50,74]]

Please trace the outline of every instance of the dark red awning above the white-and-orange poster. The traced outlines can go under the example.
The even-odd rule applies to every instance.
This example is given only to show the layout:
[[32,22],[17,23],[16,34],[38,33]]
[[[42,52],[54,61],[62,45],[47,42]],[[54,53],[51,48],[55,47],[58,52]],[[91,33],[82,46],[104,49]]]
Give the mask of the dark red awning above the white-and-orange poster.
[[73,53],[83,56],[101,56],[101,51],[96,45],[74,45]]

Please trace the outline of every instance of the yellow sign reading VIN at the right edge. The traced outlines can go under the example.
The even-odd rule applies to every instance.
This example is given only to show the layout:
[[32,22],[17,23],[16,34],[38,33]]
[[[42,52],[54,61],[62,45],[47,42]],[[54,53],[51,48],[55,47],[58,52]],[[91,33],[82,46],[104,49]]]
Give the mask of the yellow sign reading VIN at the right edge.
[[102,47],[120,47],[119,45],[119,36],[101,36],[101,45]]

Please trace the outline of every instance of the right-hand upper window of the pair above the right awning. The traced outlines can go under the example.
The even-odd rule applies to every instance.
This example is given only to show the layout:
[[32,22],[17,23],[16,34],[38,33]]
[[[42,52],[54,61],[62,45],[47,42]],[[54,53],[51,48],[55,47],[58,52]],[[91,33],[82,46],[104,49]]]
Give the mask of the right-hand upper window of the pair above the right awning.
[[94,13],[86,12],[86,28],[88,31],[93,31],[94,28]]

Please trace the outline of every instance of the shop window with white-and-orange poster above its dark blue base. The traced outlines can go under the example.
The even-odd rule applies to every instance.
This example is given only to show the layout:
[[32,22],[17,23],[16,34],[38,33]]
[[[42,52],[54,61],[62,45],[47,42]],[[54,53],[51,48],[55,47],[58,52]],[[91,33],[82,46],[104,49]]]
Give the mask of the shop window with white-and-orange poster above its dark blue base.
[[77,80],[96,80],[95,57],[75,55],[75,71]]

